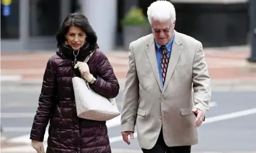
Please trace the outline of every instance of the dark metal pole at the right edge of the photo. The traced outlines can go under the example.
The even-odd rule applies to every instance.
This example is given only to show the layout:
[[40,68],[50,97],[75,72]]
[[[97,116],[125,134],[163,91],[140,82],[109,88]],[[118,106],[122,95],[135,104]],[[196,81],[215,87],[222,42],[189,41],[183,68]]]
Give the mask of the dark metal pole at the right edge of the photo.
[[250,16],[250,45],[251,53],[247,59],[249,62],[256,63],[256,1],[250,0],[249,3],[249,16]]

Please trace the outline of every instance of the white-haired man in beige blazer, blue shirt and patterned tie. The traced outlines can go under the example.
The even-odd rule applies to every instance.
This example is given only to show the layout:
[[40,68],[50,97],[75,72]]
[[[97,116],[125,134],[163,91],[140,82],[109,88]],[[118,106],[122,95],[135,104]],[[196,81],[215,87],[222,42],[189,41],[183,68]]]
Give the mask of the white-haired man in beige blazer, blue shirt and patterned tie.
[[[122,138],[130,144],[135,124],[143,152],[190,152],[211,99],[200,41],[174,30],[168,1],[148,7],[152,34],[130,43],[122,104]],[[188,25],[189,26],[189,25]]]

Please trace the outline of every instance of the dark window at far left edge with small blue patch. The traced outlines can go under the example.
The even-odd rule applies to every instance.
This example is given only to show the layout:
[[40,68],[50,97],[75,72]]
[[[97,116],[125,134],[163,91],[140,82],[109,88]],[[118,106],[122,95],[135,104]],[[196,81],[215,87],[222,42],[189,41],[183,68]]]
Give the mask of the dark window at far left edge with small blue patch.
[[4,5],[1,3],[1,38],[20,38],[20,0],[13,0],[6,13],[3,12]]

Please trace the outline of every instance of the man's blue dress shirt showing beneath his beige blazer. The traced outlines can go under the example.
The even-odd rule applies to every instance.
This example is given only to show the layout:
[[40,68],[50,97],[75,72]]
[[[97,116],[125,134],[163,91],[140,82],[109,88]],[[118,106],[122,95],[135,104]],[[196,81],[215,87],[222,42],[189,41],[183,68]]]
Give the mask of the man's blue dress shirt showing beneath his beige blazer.
[[[171,57],[171,48],[173,46],[173,39],[174,39],[174,34],[173,34],[173,37],[171,37],[171,40],[168,41],[168,43],[165,45],[165,47],[167,48],[167,54],[169,55],[169,58]],[[156,43],[157,68],[158,68],[158,73],[159,73],[161,87],[163,88],[164,87],[164,83],[162,81],[163,79],[162,79],[162,68],[161,68],[162,49],[160,49],[160,47],[162,45],[157,43],[157,41],[155,41],[155,43]]]

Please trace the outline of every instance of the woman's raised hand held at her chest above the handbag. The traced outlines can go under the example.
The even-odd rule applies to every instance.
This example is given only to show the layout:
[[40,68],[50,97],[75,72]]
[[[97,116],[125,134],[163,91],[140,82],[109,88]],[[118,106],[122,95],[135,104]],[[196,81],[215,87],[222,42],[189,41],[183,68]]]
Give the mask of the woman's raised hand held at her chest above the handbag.
[[75,68],[78,68],[83,78],[87,80],[87,82],[91,82],[94,76],[90,73],[89,67],[85,62],[77,62]]

